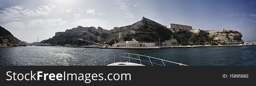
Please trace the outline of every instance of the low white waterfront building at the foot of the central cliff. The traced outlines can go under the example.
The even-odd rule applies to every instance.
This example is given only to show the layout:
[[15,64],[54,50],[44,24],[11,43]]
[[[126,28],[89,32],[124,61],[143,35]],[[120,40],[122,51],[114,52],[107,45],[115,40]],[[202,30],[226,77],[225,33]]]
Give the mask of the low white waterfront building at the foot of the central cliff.
[[126,43],[116,43],[112,44],[114,47],[154,47],[155,43],[139,43],[134,38],[131,41],[126,41]]

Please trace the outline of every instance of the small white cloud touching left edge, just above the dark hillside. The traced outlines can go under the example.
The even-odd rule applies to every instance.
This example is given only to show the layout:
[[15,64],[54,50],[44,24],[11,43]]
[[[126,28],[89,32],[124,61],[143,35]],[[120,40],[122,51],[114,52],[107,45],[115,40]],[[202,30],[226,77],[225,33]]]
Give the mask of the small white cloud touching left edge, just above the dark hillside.
[[15,28],[24,28],[25,25],[22,22],[9,22],[6,23],[4,25],[0,25],[4,28],[8,28],[8,29],[15,29]]

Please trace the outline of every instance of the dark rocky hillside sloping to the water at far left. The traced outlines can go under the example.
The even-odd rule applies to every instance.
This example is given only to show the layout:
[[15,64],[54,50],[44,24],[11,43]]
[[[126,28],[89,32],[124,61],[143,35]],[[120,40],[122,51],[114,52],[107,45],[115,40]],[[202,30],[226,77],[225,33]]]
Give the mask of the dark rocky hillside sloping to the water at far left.
[[19,46],[20,43],[20,40],[14,37],[8,30],[0,26],[0,47]]

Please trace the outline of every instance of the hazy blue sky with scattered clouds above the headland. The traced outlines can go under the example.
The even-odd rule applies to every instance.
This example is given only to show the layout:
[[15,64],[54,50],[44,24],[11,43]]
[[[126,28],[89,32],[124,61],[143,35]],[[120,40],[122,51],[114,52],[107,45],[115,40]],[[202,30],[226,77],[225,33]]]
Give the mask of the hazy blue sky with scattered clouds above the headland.
[[256,40],[256,0],[0,0],[0,26],[19,40],[36,42],[55,32],[131,25],[142,17],[201,30],[236,30]]

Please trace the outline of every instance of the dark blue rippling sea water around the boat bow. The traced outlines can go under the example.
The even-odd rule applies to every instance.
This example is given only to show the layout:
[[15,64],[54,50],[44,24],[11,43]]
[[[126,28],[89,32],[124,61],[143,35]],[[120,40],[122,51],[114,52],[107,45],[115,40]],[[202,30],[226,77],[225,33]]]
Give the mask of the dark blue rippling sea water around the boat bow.
[[[170,49],[0,47],[0,65],[78,65],[81,62],[112,53],[134,53],[186,65],[256,65],[256,45]],[[94,64],[93,61],[91,62]],[[155,63],[161,64],[162,62],[160,60]]]

